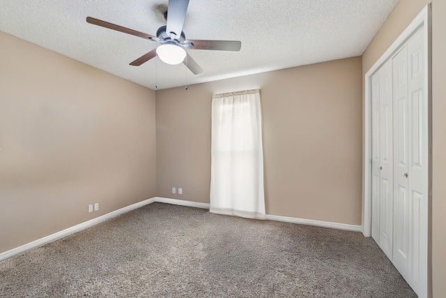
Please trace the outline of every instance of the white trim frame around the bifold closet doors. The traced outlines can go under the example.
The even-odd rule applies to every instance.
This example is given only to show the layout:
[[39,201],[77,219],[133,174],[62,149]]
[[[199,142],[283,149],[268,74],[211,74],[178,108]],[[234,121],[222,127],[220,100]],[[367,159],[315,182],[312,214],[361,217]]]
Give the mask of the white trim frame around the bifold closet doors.
[[[431,272],[431,202],[432,202],[432,99],[431,99],[431,4],[426,5],[423,10],[410,22],[408,27],[398,36],[390,45],[384,54],[376,61],[369,71],[365,74],[364,83],[364,151],[362,158],[362,234],[365,237],[371,237],[371,76],[382,66],[387,59],[391,59],[406,44],[408,38],[422,28],[424,31],[424,69],[426,69],[426,79],[424,85],[424,96],[428,100],[428,281]],[[428,292],[431,289],[431,283],[428,284]]]

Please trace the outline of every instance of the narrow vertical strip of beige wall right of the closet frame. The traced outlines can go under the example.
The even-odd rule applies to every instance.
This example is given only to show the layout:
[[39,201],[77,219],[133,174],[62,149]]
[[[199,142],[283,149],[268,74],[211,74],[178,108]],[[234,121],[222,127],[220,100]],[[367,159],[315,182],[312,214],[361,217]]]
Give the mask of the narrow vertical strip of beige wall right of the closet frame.
[[446,1],[432,3],[432,284],[446,293]]

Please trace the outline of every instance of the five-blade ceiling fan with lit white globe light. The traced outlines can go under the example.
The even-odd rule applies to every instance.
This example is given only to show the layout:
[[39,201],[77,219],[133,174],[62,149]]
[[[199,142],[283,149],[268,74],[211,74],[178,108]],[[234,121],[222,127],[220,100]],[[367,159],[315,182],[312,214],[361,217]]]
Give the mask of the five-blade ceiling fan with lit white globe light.
[[186,40],[183,24],[188,5],[189,0],[169,0],[167,12],[164,13],[167,25],[158,28],[156,36],[98,20],[94,17],[87,17],[86,22],[160,43],[151,52],[132,61],[130,63],[132,66],[140,66],[158,55],[167,64],[180,64],[183,62],[192,73],[197,75],[202,73],[203,69],[187,54],[185,49],[240,51],[242,43],[232,40]]

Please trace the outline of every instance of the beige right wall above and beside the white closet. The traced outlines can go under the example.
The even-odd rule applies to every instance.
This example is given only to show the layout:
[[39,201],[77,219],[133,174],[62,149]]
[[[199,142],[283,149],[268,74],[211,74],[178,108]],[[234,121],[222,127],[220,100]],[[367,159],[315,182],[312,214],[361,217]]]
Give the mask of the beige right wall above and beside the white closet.
[[[401,0],[362,56],[362,75],[373,66],[399,34],[432,2],[432,148],[431,212],[432,294],[446,293],[446,1]],[[364,84],[364,80],[363,80]]]

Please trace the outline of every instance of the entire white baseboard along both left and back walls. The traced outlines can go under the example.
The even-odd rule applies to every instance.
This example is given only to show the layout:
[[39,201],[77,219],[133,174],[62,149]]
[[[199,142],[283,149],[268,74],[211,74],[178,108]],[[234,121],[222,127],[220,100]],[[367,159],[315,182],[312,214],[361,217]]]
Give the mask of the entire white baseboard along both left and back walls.
[[[210,204],[208,204],[208,203],[176,200],[176,199],[161,198],[161,197],[150,198],[148,200],[137,202],[135,204],[131,204],[130,206],[123,207],[116,211],[112,211],[112,212],[104,214],[102,216],[93,218],[90,221],[86,221],[84,223],[79,223],[79,225],[72,226],[71,228],[61,230],[60,232],[56,232],[54,234],[37,239],[37,240],[29,242],[27,244],[24,244],[22,246],[13,248],[10,251],[5,251],[4,253],[0,253],[0,261],[6,260],[7,258],[13,257],[14,255],[19,255],[20,253],[24,253],[25,251],[29,251],[33,248],[43,246],[44,244],[48,244],[49,242],[55,241],[57,239],[61,239],[61,238],[66,237],[70,234],[73,234],[75,232],[79,232],[86,228],[90,228],[93,225],[97,225],[98,223],[107,221],[110,218],[114,218],[121,214],[125,214],[128,211],[132,211],[134,209],[143,207],[143,206],[151,204],[153,202],[176,204],[176,205],[180,205],[180,206],[196,207],[196,208],[202,208],[202,209],[209,209],[209,207],[210,207]],[[269,220],[269,221],[284,221],[285,223],[298,223],[300,225],[315,225],[316,227],[333,228],[333,229],[338,229],[338,230],[361,232],[360,225],[347,225],[345,223],[330,223],[327,221],[314,221],[312,219],[294,218],[294,217],[277,216],[277,215],[269,215],[269,214],[266,214],[265,219]]]

